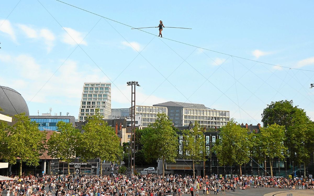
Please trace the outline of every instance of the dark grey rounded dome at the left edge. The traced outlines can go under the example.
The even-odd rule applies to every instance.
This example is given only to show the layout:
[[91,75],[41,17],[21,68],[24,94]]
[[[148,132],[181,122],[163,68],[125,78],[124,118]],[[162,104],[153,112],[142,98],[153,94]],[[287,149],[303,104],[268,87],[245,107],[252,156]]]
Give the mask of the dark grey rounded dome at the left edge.
[[11,117],[23,112],[25,112],[26,116],[30,115],[22,95],[9,87],[0,86],[0,108],[3,109],[0,111],[0,114],[9,115]]

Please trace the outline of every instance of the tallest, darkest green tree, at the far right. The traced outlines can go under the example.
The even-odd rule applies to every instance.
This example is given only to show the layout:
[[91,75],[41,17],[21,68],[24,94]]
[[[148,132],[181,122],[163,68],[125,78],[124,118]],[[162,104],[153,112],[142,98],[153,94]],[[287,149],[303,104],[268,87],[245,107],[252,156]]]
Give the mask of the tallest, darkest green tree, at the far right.
[[293,106],[292,100],[276,101],[264,109],[262,117],[265,127],[275,123],[285,126],[284,146],[287,147],[290,160],[299,166],[310,161],[310,154],[314,150],[313,121],[303,109]]

